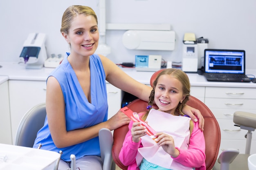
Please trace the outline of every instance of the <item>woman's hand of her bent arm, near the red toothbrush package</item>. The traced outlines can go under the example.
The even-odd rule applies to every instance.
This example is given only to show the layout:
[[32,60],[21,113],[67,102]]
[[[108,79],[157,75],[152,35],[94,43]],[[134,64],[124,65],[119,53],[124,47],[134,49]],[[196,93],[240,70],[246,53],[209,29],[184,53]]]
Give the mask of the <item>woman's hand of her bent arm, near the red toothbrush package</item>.
[[109,124],[109,130],[115,130],[121,126],[129,124],[130,118],[119,110],[114,116],[108,119],[107,122]]

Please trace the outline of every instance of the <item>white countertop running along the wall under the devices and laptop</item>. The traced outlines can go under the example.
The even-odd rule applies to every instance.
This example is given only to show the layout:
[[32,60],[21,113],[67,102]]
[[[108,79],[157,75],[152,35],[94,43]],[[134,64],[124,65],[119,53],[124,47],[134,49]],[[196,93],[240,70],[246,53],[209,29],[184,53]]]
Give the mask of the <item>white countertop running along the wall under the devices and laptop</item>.
[[[12,62],[0,62],[0,83],[10,80],[32,80],[46,81],[49,73],[54,68],[26,69],[24,64]],[[135,68],[122,68],[124,72],[143,84],[150,84],[150,78],[154,72],[136,71]],[[246,70],[247,75],[256,75],[256,70]],[[8,78],[7,78],[8,76]],[[203,75],[197,73],[188,73],[191,86],[209,86],[209,87],[245,87],[256,88],[256,83],[236,83],[236,82],[208,82]]]

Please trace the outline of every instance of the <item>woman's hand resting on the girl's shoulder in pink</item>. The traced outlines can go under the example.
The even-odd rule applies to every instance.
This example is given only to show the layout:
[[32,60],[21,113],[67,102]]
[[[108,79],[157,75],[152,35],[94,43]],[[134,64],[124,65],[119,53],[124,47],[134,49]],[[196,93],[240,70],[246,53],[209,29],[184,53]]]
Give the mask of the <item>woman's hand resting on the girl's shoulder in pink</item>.
[[[197,122],[199,120],[198,127],[203,131],[204,130],[204,117],[198,109],[195,109],[191,106],[184,105],[182,112],[188,115],[193,121]],[[196,117],[195,117],[196,116]],[[198,117],[198,119],[197,119]]]

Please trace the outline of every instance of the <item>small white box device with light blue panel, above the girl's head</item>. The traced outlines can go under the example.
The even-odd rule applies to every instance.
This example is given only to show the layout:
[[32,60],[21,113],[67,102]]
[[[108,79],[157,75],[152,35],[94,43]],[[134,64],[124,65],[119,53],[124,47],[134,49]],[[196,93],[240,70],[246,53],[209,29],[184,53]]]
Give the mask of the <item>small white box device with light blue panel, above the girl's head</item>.
[[158,71],[161,69],[161,55],[135,55],[136,71]]

